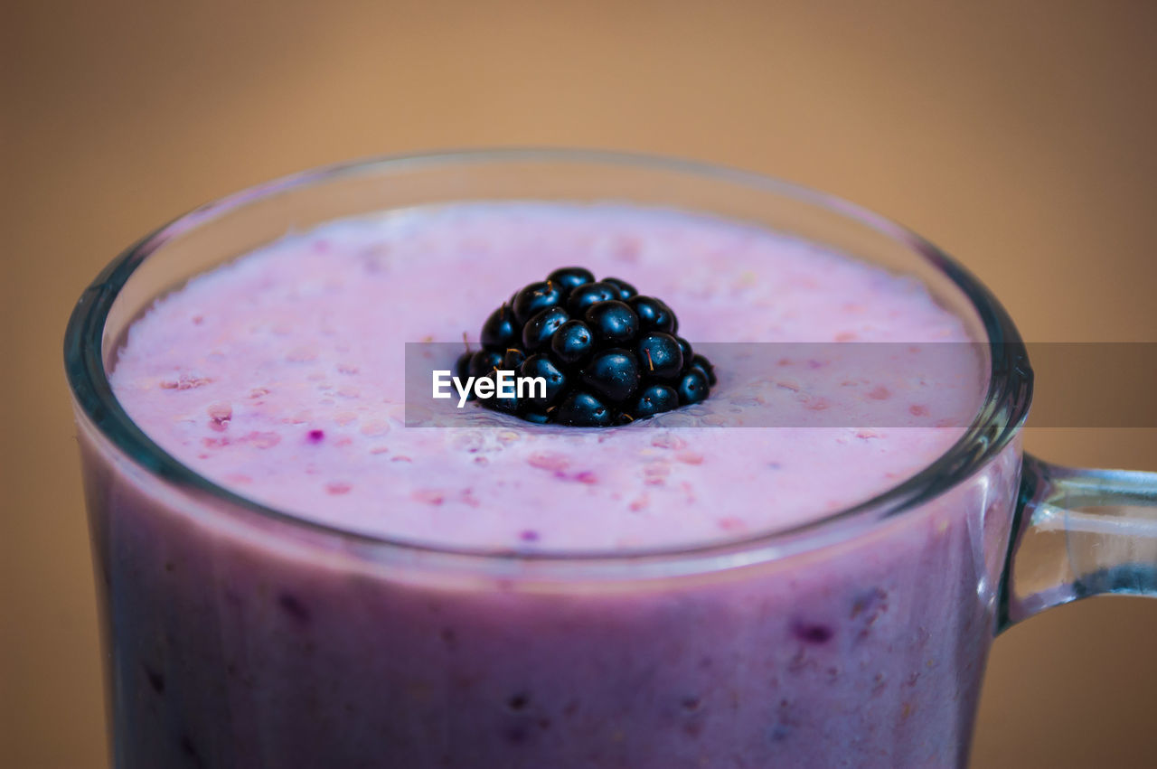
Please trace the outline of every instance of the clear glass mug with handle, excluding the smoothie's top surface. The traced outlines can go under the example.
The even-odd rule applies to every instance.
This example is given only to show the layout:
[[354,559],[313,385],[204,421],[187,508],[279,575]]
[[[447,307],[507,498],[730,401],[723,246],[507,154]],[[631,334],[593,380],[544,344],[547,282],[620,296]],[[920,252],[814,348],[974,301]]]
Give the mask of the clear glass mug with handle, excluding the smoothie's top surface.
[[[518,555],[358,535],[201,478],[128,420],[127,325],[190,276],[336,217],[618,200],[754,222],[923,281],[986,343],[965,436],[876,498],[677,550]],[[147,236],[65,340],[118,768],[959,767],[994,636],[1157,594],[1157,475],[1022,454],[1032,372],[988,290],[853,205],[760,176],[566,150],[305,172]]]

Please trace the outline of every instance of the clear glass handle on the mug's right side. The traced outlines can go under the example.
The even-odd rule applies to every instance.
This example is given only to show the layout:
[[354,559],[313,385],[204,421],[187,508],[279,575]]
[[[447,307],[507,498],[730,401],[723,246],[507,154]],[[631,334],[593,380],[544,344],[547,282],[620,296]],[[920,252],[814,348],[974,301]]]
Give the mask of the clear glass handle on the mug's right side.
[[1157,473],[1024,456],[997,631],[1108,593],[1157,597]]

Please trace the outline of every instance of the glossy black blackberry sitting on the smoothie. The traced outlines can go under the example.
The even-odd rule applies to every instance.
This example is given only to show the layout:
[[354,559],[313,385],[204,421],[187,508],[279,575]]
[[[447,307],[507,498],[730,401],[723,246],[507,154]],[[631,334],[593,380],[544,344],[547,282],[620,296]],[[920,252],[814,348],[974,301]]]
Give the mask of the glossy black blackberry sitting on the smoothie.
[[595,280],[560,267],[515,291],[482,325],[482,349],[455,363],[459,377],[496,370],[541,378],[515,395],[482,398],[486,408],[537,424],[610,427],[698,404],[715,369],[678,337],[679,319],[662,300],[618,278]]

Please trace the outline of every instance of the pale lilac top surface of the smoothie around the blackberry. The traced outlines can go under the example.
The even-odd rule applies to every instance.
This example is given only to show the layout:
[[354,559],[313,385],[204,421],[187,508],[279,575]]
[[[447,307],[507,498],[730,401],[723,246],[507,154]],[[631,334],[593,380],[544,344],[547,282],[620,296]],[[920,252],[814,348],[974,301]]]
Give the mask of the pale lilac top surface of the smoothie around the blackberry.
[[113,390],[164,450],[243,496],[363,533],[536,550],[702,542],[842,509],[948,450],[981,392],[970,356],[852,382],[808,379],[819,363],[788,356],[772,376],[720,367],[680,423],[778,409],[804,424],[860,401],[902,420],[578,430],[469,405],[460,427],[405,427],[405,342],[477,339],[493,309],[565,265],[663,298],[693,345],[968,340],[915,280],[754,227],[477,204],[292,234],[193,279],[131,328]]

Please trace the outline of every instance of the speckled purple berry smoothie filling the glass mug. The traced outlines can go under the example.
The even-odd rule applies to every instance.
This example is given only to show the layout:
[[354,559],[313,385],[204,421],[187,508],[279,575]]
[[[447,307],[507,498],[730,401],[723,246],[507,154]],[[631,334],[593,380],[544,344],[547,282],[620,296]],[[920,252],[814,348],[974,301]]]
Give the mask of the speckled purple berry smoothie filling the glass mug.
[[[568,264],[663,297],[693,343],[968,341],[911,279],[642,208],[413,209],[196,278],[133,325],[111,376],[149,437],[303,519],[508,555],[448,570],[418,549],[376,560],[356,540],[206,515],[82,435],[119,766],[965,761],[1015,446],[919,510],[769,563],[596,581],[513,554],[722,544],[848,508],[960,437],[980,361],[854,379],[816,360],[721,368],[707,404],[659,426],[471,409],[405,427],[404,342],[460,339]],[[890,427],[808,427],[861,404]],[[801,427],[744,426],[768,408]]]

